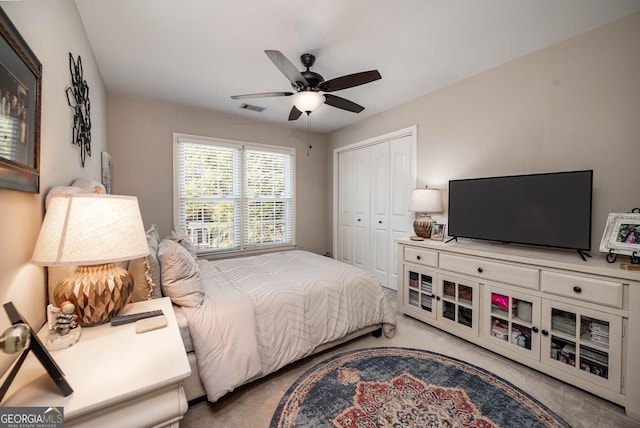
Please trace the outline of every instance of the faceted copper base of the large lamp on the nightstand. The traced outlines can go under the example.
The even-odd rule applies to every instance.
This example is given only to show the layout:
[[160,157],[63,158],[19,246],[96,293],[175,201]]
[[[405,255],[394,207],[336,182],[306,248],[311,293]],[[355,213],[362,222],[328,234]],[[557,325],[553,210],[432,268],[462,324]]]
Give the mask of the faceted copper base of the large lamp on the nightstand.
[[114,263],[79,266],[76,273],[58,283],[53,300],[56,306],[70,301],[76,306],[78,324],[103,324],[129,303],[133,277]]

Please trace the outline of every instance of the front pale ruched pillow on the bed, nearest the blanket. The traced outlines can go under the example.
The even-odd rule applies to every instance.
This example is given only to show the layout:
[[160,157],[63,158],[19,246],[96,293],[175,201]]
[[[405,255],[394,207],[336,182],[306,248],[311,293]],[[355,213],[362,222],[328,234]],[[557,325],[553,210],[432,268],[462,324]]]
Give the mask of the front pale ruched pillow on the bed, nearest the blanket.
[[162,294],[179,306],[197,308],[204,299],[198,262],[175,241],[163,239],[158,248]]

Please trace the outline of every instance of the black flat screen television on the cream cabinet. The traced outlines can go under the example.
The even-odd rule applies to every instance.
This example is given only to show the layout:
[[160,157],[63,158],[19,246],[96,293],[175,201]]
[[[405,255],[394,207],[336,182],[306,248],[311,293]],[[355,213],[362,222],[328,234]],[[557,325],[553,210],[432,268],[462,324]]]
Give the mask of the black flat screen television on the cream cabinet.
[[451,180],[448,235],[582,255],[591,249],[592,189],[592,170]]

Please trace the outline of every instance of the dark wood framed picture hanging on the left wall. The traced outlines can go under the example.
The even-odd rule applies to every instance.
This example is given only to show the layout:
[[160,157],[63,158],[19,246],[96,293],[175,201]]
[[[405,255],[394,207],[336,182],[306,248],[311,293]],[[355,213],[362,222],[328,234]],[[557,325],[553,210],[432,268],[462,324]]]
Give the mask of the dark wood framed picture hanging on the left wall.
[[38,193],[42,64],[0,8],[0,187]]

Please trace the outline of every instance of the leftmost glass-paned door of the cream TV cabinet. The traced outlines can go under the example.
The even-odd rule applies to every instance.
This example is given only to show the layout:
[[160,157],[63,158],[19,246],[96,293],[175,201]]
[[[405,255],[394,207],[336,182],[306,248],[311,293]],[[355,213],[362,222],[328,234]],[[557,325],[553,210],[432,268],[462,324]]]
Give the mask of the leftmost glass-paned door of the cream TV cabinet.
[[404,306],[407,313],[418,318],[435,318],[435,272],[408,265],[405,265],[404,269],[406,284]]

